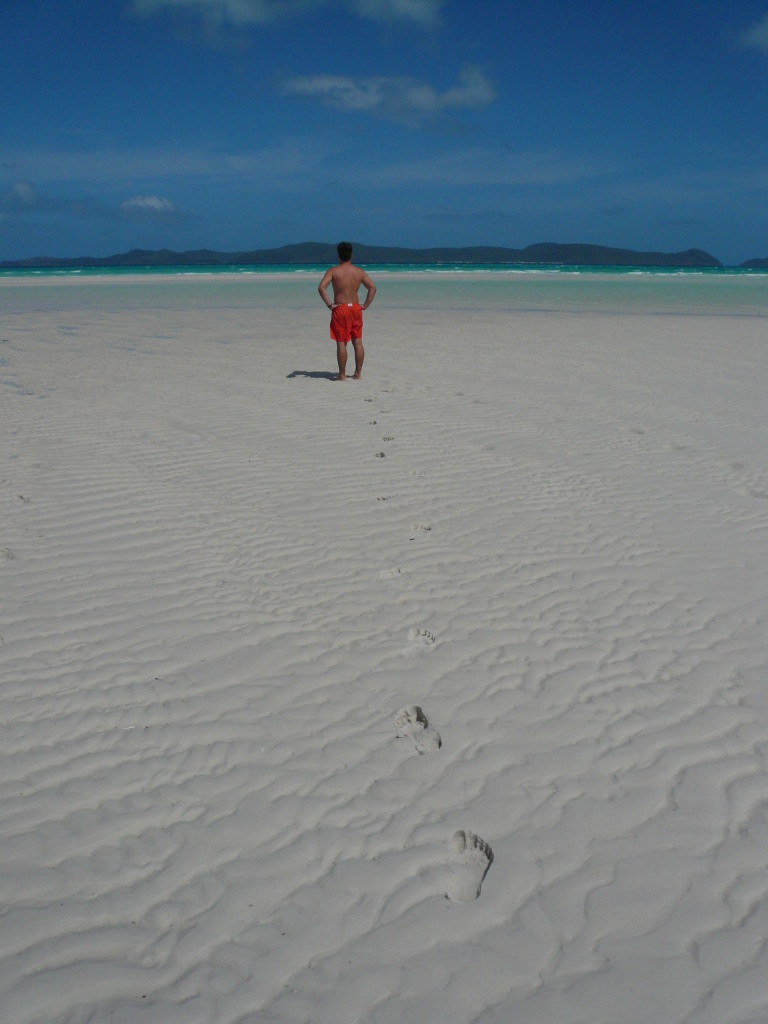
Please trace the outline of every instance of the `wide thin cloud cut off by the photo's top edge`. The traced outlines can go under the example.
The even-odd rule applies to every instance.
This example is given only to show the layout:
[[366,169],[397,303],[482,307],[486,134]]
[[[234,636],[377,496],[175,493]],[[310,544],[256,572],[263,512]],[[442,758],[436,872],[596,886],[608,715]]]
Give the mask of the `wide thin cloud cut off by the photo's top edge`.
[[444,0],[133,0],[133,11],[152,15],[189,14],[241,28],[299,17],[323,7],[340,7],[376,22],[435,25]]

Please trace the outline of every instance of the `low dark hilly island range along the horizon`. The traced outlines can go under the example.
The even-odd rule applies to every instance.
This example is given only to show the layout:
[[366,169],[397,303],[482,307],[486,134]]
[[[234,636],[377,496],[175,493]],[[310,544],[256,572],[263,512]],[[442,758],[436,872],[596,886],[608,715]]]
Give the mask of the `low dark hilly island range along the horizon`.
[[[60,258],[36,256],[32,259],[0,260],[0,268],[44,269],[75,267],[158,267],[158,266],[298,266],[336,262],[336,246],[325,242],[301,242],[279,249],[254,249],[250,252],[215,252],[195,249],[174,252],[170,249],[132,249],[114,256]],[[458,249],[404,249],[354,244],[354,259],[359,263],[444,263],[482,266],[490,264],[551,264],[558,266],[643,266],[643,267],[722,267],[720,260],[700,249],[680,253],[636,252],[607,246],[560,245],[541,242],[525,249],[501,246],[469,246]],[[768,268],[768,259],[753,259],[744,268]]]

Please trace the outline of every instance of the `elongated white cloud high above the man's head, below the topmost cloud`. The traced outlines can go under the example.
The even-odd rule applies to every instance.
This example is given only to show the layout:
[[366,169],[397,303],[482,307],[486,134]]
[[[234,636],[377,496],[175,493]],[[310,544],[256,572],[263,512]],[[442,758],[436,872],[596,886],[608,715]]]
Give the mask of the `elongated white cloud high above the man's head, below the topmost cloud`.
[[286,79],[282,91],[286,95],[318,99],[336,110],[373,114],[407,124],[418,124],[446,111],[488,106],[496,99],[496,89],[477,68],[465,68],[457,84],[443,92],[410,77],[342,75]]

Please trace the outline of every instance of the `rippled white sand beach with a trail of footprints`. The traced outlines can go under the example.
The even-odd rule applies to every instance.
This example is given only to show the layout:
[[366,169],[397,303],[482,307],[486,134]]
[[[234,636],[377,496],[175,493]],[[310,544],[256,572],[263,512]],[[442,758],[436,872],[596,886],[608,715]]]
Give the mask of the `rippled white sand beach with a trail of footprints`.
[[765,318],[22,291],[2,1024],[768,1020]]

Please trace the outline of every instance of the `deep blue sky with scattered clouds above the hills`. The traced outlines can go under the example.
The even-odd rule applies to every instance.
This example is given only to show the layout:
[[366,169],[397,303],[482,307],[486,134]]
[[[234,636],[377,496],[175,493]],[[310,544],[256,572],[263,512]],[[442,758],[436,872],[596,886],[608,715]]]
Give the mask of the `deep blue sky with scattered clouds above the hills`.
[[768,256],[768,0],[0,0],[0,258]]

